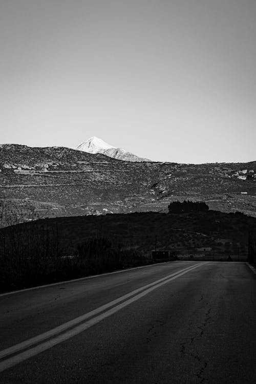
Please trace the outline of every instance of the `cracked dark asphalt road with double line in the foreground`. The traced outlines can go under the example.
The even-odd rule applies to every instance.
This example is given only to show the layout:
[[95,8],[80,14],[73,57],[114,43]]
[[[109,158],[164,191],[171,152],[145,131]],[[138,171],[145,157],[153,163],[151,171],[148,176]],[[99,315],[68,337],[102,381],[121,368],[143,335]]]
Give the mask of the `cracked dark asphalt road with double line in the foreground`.
[[0,383],[255,383],[256,274],[175,261],[0,295]]

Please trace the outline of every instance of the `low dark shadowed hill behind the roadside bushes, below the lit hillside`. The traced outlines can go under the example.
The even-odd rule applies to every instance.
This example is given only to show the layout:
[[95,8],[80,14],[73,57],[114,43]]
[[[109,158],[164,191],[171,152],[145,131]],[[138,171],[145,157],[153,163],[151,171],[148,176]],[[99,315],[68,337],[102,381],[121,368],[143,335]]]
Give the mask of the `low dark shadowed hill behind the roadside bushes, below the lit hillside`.
[[[48,232],[58,241],[61,255],[75,254],[77,246],[91,238],[108,238],[135,248],[143,254],[151,254],[157,237],[158,249],[177,252],[196,252],[197,248],[211,247],[218,254],[247,254],[248,232],[256,230],[256,219],[246,215],[226,214],[220,211],[194,211],[181,214],[135,212],[104,216],[78,216],[37,220],[17,224],[0,230],[0,248],[8,248],[7,239],[16,239],[19,247],[22,239],[29,239]],[[33,240],[33,246],[36,247]],[[228,243],[228,244],[226,244]],[[13,241],[11,240],[12,247]],[[31,244],[30,244],[31,246]]]

